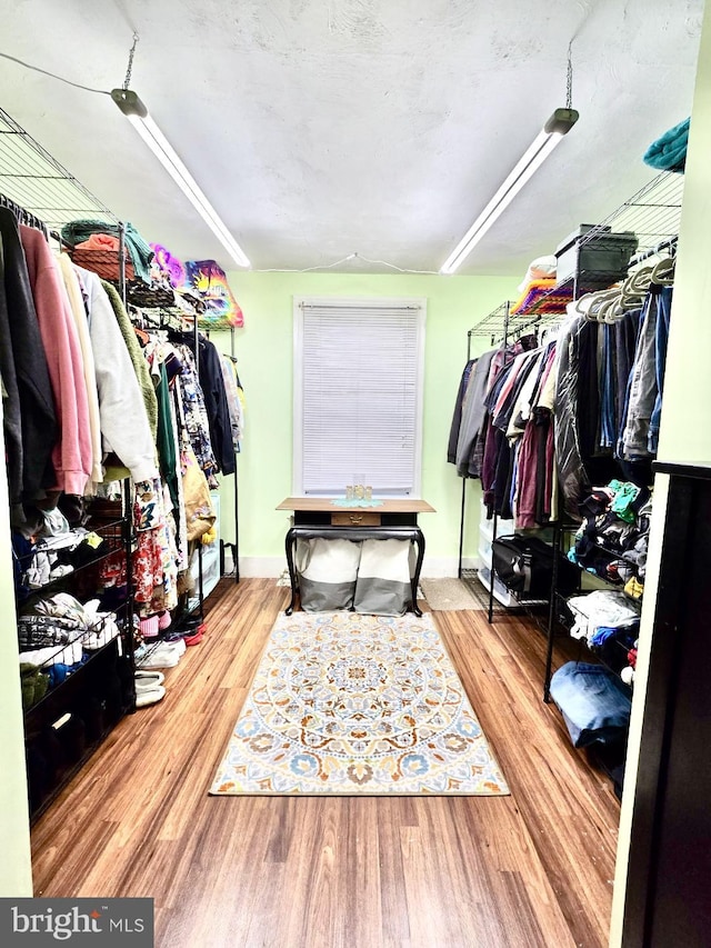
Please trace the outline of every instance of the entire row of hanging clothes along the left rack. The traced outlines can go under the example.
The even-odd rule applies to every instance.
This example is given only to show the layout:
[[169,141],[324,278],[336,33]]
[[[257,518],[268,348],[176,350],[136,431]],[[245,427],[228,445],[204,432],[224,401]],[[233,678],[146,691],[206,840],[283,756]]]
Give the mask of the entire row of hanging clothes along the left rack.
[[[208,485],[234,470],[242,430],[234,370],[228,396],[223,361],[201,338],[198,373],[192,333],[180,335],[169,361],[149,360],[111,283],[66,253],[57,258],[44,234],[7,208],[0,238],[0,375],[16,533],[37,539],[36,503],[92,497],[130,476],[137,600],[172,608],[188,542],[214,521]],[[188,447],[198,459],[190,478]],[[188,479],[198,485],[190,498],[182,495]]]

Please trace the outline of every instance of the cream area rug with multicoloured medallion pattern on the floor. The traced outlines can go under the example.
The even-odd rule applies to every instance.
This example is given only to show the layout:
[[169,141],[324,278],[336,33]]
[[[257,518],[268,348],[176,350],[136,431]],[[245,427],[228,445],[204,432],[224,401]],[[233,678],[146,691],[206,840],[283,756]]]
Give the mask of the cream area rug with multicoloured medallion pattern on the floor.
[[213,795],[507,795],[432,617],[279,616]]

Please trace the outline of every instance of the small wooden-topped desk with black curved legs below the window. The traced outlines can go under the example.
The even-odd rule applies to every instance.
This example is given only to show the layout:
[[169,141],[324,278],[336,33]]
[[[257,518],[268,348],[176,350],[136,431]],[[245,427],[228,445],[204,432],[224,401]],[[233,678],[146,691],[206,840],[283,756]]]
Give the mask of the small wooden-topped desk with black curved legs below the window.
[[277,510],[293,511],[293,526],[287,532],[286,550],[291,602],[287,616],[291,616],[297,601],[299,582],[293,567],[293,548],[297,540],[316,537],[333,537],[344,540],[410,540],[417,548],[417,561],[412,582],[412,611],[418,607],[418,585],[424,558],[424,535],[418,526],[419,513],[433,513],[427,500],[383,499],[378,507],[342,507],[330,497],[288,497]]

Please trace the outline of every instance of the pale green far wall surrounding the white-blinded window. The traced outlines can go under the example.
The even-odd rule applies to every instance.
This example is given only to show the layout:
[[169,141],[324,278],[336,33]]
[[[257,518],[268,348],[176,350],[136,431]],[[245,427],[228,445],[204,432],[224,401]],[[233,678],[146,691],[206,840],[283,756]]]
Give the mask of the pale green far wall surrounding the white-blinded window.
[[[230,285],[244,312],[234,330],[234,351],[247,393],[247,426],[239,458],[240,557],[281,557],[287,516],[274,507],[291,492],[292,467],[292,297],[425,297],[422,496],[437,509],[422,527],[428,558],[457,558],[461,480],[447,463],[454,398],[467,357],[467,330],[515,296],[518,280],[503,277],[418,275],[231,272]],[[212,333],[230,351],[230,333]],[[475,339],[479,351],[488,340]],[[478,482],[468,483],[464,553],[475,556]],[[232,479],[222,489],[222,529],[231,540]],[[427,561],[425,561],[427,563]]]

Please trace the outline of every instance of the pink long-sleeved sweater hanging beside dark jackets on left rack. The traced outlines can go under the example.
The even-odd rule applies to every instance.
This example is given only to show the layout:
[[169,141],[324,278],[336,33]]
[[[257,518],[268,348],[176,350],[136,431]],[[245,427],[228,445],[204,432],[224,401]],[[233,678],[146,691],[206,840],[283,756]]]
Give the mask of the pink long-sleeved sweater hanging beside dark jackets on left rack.
[[91,431],[77,327],[59,267],[39,230],[20,226],[60,435],[52,451],[58,490],[83,495],[91,473]]

